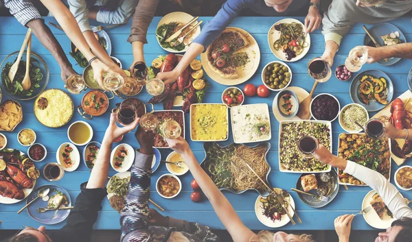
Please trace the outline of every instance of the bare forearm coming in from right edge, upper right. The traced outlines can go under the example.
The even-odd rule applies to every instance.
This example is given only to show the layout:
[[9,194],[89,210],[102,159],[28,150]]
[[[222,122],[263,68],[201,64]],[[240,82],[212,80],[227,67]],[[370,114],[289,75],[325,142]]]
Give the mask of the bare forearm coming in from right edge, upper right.
[[412,43],[402,43],[398,45],[369,47],[367,49],[367,63],[371,64],[384,58],[404,58],[412,59]]

